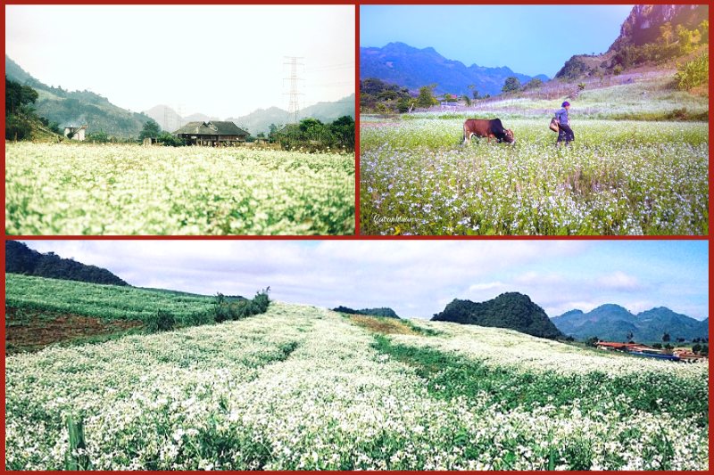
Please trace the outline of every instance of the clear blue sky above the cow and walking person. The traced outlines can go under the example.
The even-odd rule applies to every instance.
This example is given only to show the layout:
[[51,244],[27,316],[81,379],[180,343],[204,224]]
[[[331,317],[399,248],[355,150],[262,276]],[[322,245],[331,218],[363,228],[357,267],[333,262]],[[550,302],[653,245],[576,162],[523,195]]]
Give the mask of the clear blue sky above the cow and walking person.
[[431,46],[470,66],[553,77],[573,54],[604,53],[633,5],[361,5],[360,45]]

